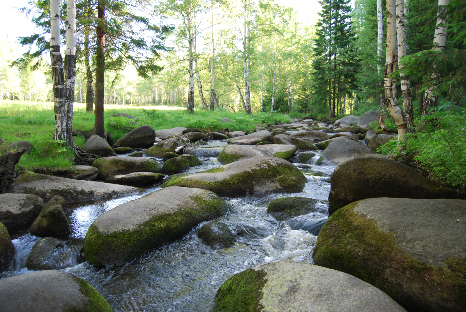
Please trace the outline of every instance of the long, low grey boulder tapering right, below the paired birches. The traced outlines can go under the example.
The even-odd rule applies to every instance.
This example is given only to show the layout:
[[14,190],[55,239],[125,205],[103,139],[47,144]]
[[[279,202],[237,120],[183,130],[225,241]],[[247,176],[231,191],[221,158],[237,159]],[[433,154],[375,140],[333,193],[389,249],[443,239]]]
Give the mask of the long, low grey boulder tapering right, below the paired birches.
[[67,203],[96,201],[139,193],[139,189],[135,187],[60,178],[33,172],[21,174],[9,185],[7,191],[15,194],[34,194],[43,201],[49,201],[54,195],[60,195]]

